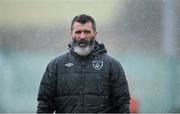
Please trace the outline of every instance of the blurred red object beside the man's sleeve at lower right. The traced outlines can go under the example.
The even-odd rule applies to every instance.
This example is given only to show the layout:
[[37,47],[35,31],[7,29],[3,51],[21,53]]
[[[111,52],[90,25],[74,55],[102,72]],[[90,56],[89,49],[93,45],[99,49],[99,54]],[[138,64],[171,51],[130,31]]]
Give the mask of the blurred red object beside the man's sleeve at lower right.
[[139,112],[139,102],[133,96],[131,96],[131,100],[130,100],[130,112],[131,113]]

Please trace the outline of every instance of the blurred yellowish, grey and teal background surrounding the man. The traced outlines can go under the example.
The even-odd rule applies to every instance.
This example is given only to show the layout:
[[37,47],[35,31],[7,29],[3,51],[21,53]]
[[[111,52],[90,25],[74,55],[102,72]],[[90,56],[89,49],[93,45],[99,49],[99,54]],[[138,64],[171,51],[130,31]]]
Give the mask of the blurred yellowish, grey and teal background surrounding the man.
[[36,112],[44,70],[82,13],[122,64],[138,112],[180,112],[180,0],[0,0],[0,112]]

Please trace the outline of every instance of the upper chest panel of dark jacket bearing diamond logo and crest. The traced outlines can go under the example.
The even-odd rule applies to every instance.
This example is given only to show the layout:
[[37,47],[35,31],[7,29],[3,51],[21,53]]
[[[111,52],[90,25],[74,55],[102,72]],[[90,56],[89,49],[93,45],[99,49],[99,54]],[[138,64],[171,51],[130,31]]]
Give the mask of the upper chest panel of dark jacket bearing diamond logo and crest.
[[58,66],[58,74],[69,73],[109,73],[110,64],[103,58],[92,58],[86,60],[77,60],[75,58],[67,59]]

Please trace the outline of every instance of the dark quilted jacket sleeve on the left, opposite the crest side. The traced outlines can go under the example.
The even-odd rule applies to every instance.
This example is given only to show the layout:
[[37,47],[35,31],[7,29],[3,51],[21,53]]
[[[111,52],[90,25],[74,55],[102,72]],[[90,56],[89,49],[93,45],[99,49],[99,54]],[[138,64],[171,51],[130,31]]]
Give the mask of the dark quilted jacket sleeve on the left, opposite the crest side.
[[56,94],[56,65],[51,61],[41,79],[38,92],[37,113],[54,112],[54,98]]

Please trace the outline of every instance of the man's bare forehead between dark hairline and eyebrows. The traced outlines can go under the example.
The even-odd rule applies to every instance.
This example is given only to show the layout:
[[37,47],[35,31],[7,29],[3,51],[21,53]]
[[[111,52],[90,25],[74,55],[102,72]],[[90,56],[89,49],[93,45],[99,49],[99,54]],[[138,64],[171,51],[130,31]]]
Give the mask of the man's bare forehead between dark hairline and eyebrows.
[[73,30],[93,30],[92,23],[87,22],[87,23],[82,24],[79,22],[74,22]]

